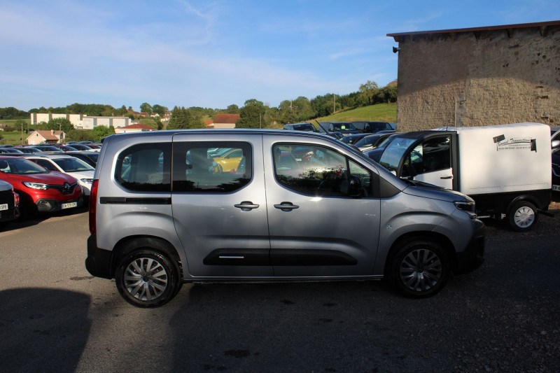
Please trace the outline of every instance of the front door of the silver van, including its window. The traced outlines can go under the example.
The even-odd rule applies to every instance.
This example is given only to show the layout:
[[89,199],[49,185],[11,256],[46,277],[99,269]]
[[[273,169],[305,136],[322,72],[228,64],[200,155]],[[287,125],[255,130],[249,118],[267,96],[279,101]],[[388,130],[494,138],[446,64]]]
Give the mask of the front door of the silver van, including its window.
[[[274,276],[371,274],[380,221],[374,173],[319,144],[265,135],[263,149]],[[361,197],[349,197],[350,176],[360,179]]]

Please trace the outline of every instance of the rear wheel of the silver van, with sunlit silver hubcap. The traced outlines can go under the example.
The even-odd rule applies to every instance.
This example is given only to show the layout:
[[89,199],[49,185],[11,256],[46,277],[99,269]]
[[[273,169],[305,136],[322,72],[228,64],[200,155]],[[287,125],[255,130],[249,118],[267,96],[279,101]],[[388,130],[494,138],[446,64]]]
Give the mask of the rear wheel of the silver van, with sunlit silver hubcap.
[[136,307],[160,307],[179,292],[180,271],[167,254],[139,249],[127,254],[117,267],[115,283],[120,295]]

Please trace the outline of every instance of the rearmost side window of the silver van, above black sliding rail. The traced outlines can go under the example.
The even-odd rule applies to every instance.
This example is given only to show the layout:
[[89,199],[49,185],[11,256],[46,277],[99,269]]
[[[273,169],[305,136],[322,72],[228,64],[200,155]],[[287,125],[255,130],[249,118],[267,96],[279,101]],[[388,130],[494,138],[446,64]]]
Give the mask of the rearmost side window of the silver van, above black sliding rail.
[[118,155],[115,179],[128,190],[169,192],[170,175],[171,143],[134,145]]

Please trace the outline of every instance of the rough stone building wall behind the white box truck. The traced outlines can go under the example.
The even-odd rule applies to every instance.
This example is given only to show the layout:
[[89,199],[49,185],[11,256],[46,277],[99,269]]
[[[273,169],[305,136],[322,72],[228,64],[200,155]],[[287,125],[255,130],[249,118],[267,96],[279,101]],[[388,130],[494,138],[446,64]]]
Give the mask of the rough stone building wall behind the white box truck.
[[560,125],[560,24],[394,37],[398,131]]

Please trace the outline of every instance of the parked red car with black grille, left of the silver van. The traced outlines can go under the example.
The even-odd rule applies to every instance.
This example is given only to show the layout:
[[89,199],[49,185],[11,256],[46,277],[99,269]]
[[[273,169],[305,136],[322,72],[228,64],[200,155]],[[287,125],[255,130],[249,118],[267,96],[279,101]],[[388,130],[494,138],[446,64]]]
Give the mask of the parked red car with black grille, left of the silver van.
[[72,176],[48,171],[22,157],[0,156],[0,180],[20,195],[21,216],[83,206],[80,183]]

